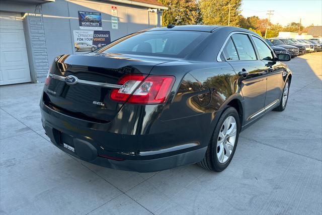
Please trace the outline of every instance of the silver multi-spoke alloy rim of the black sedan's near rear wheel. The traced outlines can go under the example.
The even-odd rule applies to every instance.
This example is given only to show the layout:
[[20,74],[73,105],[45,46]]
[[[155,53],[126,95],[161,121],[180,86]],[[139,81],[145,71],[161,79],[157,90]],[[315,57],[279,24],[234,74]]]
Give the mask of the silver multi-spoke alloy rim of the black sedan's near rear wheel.
[[229,159],[235,145],[236,135],[236,120],[229,116],[223,122],[217,140],[217,158],[220,163],[225,163]]

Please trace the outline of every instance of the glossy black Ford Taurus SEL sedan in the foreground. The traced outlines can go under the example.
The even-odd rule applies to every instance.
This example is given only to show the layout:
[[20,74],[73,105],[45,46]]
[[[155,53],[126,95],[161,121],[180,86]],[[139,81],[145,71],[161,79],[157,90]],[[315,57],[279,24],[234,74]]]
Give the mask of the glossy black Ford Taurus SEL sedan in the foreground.
[[137,32],[56,57],[42,125],[59,149],[97,165],[150,172],[198,163],[222,171],[240,131],[285,109],[292,73],[281,61],[288,60],[241,28]]

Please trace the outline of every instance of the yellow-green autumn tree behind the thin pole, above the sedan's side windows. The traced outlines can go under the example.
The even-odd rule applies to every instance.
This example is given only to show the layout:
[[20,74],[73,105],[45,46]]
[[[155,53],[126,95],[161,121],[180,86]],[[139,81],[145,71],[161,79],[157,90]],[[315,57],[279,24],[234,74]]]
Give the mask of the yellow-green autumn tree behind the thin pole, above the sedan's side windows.
[[200,0],[199,2],[205,25],[228,25],[230,5],[230,26],[239,26],[241,0]]

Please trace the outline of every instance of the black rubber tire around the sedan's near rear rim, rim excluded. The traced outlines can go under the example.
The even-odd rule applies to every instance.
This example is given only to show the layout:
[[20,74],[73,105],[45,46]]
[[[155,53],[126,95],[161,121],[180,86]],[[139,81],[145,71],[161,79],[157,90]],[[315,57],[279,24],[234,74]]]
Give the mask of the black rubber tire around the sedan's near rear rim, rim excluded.
[[[237,131],[236,131],[236,138],[235,138],[235,143],[232,149],[232,152],[230,154],[230,157],[228,158],[228,160],[224,163],[220,163],[217,157],[217,140],[218,140],[218,136],[219,136],[219,132],[221,130],[221,127],[224,123],[224,121],[228,118],[232,116],[235,121],[236,121],[236,127],[237,127]],[[229,165],[235,150],[236,150],[236,146],[238,143],[238,136],[239,136],[239,130],[240,130],[240,126],[239,126],[239,116],[238,113],[236,111],[236,109],[234,109],[233,107],[228,107],[220,116],[217,125],[212,133],[212,136],[210,138],[210,142],[208,145],[208,149],[206,152],[205,157],[203,158],[202,161],[198,162],[198,165],[208,169],[208,170],[212,170],[215,172],[221,172],[222,170],[224,170],[225,168],[227,168],[227,166]]]

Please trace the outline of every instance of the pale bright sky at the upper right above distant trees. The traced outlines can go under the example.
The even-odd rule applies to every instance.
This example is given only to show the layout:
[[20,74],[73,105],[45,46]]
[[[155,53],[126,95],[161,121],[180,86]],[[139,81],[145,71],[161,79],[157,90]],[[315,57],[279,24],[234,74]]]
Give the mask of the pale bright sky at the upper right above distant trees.
[[322,26],[322,0],[243,0],[241,15],[267,18],[267,10],[274,11],[271,23],[283,26],[291,22]]

